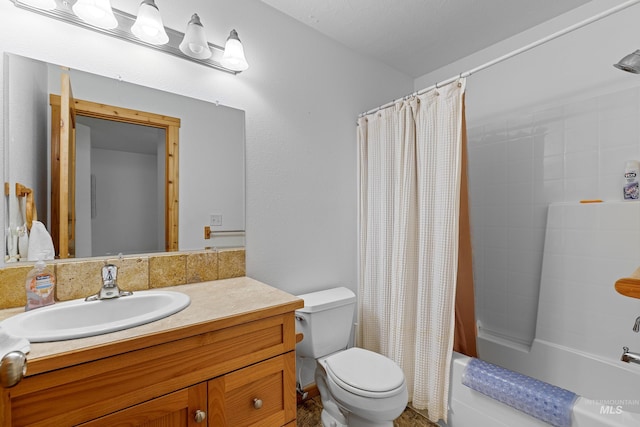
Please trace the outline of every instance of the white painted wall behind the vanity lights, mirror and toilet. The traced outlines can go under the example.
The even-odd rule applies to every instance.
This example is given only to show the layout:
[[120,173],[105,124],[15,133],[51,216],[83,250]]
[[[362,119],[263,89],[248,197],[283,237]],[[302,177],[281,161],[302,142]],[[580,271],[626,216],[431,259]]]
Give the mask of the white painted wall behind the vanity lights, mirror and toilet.
[[[112,4],[135,13],[138,2]],[[216,44],[236,28],[251,68],[232,76],[9,1],[0,2],[0,50],[245,110],[248,275],[293,293],[355,289],[356,117],[413,80],[259,1],[156,4],[179,31],[197,12]]]

